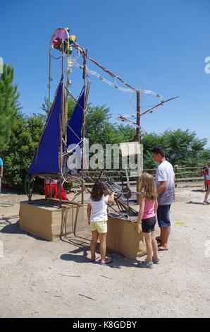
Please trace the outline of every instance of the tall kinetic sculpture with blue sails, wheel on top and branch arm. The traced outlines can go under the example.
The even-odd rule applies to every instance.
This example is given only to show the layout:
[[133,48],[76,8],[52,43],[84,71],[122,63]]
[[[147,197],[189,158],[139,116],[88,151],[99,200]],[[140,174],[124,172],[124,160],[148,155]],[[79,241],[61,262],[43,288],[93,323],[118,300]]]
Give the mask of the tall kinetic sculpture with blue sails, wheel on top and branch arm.
[[[58,52],[59,56],[55,57],[54,52]],[[61,55],[60,55],[61,53]],[[78,64],[78,58],[82,57],[82,64]],[[64,59],[67,59],[67,68],[64,71]],[[60,59],[61,60],[61,80],[58,83],[58,88],[56,89],[54,102],[50,107],[50,98],[51,98],[51,59]],[[96,71],[91,71],[87,68],[87,59],[92,61],[95,65],[99,66],[100,69],[108,73],[112,78],[118,79],[127,88],[123,88],[116,83],[113,83],[101,75],[99,75]],[[72,67],[75,66],[79,69],[82,69],[82,90],[78,100],[73,97],[70,93],[69,85],[71,84],[70,81],[70,73],[72,73]],[[64,72],[66,74],[66,84],[64,83]],[[161,102],[159,104],[154,105],[152,108],[147,109],[147,111],[139,114],[142,116],[147,114],[148,112],[154,112],[157,107],[162,106],[165,102],[169,100],[173,100],[171,98],[169,100],[163,100],[163,97],[154,93],[152,91],[147,90],[137,90],[133,88],[128,83],[122,80],[119,76],[116,76],[114,73],[106,69],[104,66],[101,66],[90,58],[87,55],[87,50],[76,42],[76,36],[70,35],[70,31],[68,28],[58,28],[51,37],[50,45],[49,45],[49,114],[47,117],[46,124],[44,126],[44,130],[42,133],[42,137],[39,141],[39,146],[35,152],[35,156],[32,160],[32,164],[28,171],[29,174],[29,182],[28,182],[28,196],[31,199],[32,196],[32,181],[35,177],[40,177],[42,179],[47,179],[49,182],[51,180],[58,180],[59,184],[59,201],[60,206],[62,204],[62,186],[64,182],[74,182],[75,184],[79,184],[82,187],[82,203],[83,203],[83,191],[84,189],[89,189],[85,187],[84,176],[89,179],[92,177],[89,174],[84,175],[82,170],[83,162],[81,161],[80,167],[76,170],[70,170],[68,167],[68,157],[72,153],[76,153],[76,147],[80,146],[83,147],[83,143],[85,141],[85,114],[87,111],[87,100],[89,95],[89,86],[90,81],[87,81],[87,73],[97,76],[100,81],[107,83],[113,88],[118,90],[122,90],[124,92],[135,92],[138,95],[140,93],[155,95],[159,97]],[[75,100],[75,109],[73,110],[73,114],[71,115],[70,119],[67,118],[68,116],[68,97],[73,97]],[[126,121],[128,124],[132,126],[136,126],[140,129],[138,124],[135,124],[133,121],[130,121],[128,117],[135,117],[135,116],[123,116],[119,115],[118,119],[122,121]],[[83,155],[77,155],[78,160],[83,158]],[[116,211],[113,206],[111,208],[120,213],[123,218],[128,219],[129,215],[136,215],[136,211],[130,208],[128,199],[131,196],[130,186],[128,185],[129,179],[127,174],[127,186],[124,187],[121,175],[118,177],[118,183],[115,181],[115,177],[104,177],[104,172],[99,175],[99,178],[104,178],[106,181],[110,191],[116,191],[116,203],[118,206],[118,211]],[[118,173],[120,174],[120,173]],[[124,202],[121,198],[124,197],[127,199],[127,202]]]

